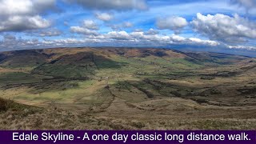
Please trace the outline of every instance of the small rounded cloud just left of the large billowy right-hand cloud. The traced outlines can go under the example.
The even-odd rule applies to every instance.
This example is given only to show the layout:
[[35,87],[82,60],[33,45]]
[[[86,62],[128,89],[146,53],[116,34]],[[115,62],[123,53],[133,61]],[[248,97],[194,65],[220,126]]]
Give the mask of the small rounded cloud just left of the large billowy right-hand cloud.
[[156,25],[158,29],[169,29],[174,30],[175,33],[179,33],[182,28],[187,26],[188,22],[186,22],[185,18],[178,16],[171,16],[167,18],[158,18]]

